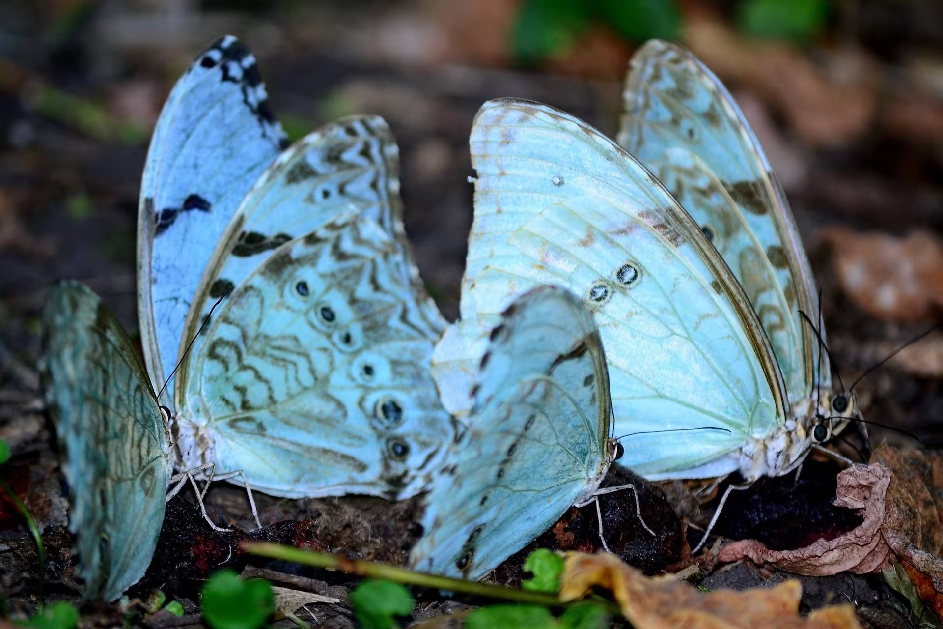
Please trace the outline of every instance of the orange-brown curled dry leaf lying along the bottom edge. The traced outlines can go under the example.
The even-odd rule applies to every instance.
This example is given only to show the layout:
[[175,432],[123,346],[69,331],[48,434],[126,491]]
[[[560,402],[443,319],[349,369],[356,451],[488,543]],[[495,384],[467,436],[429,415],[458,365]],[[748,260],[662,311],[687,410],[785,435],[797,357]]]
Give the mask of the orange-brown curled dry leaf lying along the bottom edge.
[[622,615],[636,629],[712,629],[779,627],[780,629],[841,629],[861,625],[851,605],[818,609],[799,615],[802,586],[787,581],[775,588],[703,592],[673,576],[646,577],[608,553],[567,554],[560,598],[572,601],[594,587],[612,591]]

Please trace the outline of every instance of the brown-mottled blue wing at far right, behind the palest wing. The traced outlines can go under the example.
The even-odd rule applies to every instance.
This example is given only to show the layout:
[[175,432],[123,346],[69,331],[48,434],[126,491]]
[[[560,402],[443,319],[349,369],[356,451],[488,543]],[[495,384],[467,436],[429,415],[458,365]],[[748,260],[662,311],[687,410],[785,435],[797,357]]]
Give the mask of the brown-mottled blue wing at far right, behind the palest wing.
[[828,388],[827,356],[799,314],[819,315],[811,267],[786,195],[733,97],[667,41],[637,52],[623,96],[620,145],[711,237],[769,336],[789,399],[808,396],[814,383]]

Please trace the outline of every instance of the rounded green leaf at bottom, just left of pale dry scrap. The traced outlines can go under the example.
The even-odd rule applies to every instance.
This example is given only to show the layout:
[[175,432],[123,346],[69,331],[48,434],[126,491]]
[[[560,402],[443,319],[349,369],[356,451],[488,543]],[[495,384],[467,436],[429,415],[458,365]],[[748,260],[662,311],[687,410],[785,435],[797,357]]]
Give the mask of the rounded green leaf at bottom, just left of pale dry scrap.
[[275,610],[275,597],[265,579],[243,581],[235,571],[223,570],[203,587],[200,606],[214,629],[257,629]]

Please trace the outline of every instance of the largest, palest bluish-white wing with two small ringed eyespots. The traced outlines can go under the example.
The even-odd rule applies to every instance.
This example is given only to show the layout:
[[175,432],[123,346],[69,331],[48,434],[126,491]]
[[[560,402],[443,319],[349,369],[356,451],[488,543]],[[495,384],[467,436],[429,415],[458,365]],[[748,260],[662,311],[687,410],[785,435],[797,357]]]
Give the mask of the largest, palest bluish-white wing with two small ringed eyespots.
[[[554,108],[491,101],[471,145],[462,321],[437,348],[439,383],[469,371],[464,356],[481,355],[482,329],[514,295],[565,286],[599,325],[616,433],[634,435],[620,463],[652,478],[736,469],[738,449],[784,421],[783,385],[753,309],[697,225],[635,159]],[[666,429],[692,432],[651,434]]]

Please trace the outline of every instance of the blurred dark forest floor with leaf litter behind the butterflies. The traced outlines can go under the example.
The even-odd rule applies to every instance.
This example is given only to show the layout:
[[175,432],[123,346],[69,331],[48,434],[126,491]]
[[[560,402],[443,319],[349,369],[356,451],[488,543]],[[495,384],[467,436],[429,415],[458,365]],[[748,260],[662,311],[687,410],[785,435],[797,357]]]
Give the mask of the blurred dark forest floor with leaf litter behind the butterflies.
[[[812,257],[846,385],[940,319],[937,0],[8,0],[0,15],[4,419],[39,408],[51,282],[90,284],[137,329],[150,133],[175,79],[224,33],[256,54],[292,139],[352,113],[389,121],[406,229],[450,319],[472,220],[477,108],[529,98],[614,135],[627,61],[653,37],[690,47],[753,124]],[[866,417],[940,445],[941,377],[943,340],[931,335],[856,390]]]

